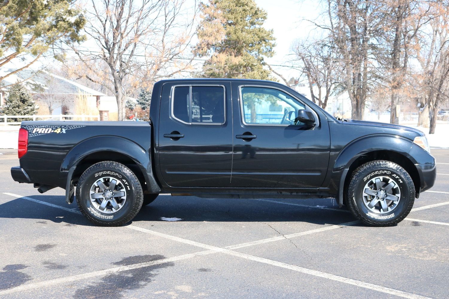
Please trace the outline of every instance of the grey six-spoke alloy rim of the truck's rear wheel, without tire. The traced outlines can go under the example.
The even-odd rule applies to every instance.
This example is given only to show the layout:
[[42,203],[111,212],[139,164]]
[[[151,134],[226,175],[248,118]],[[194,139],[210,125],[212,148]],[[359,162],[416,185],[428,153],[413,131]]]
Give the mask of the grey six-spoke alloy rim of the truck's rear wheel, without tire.
[[104,176],[92,184],[90,201],[92,207],[101,213],[115,213],[126,202],[126,189],[120,180]]

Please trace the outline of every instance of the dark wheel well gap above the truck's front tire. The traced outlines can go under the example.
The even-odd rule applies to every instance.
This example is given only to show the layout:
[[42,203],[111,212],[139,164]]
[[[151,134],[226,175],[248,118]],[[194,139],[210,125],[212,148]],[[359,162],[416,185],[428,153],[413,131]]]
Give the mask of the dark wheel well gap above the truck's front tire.
[[[348,174],[346,175],[344,181],[344,186],[348,186],[349,180],[351,180],[352,172],[356,170],[357,167],[375,160],[387,160],[396,163],[404,168],[412,178],[413,184],[415,186],[415,193],[418,195],[419,189],[421,187],[421,179],[419,178],[418,170],[414,166],[413,162],[404,155],[389,150],[377,150],[363,154],[359,158],[357,158],[349,167]],[[343,194],[346,194],[346,190]]]

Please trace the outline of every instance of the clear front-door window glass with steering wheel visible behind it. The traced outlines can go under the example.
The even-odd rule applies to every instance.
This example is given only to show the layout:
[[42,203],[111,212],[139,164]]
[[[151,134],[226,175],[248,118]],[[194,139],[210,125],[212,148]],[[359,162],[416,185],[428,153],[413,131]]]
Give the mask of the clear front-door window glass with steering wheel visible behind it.
[[304,104],[275,88],[242,87],[242,114],[246,124],[296,124]]

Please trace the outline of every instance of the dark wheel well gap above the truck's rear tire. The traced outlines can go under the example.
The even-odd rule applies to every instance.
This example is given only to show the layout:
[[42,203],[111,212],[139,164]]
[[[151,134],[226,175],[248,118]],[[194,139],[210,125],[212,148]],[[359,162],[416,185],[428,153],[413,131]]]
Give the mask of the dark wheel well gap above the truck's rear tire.
[[139,179],[139,181],[143,187],[142,189],[144,190],[144,193],[145,193],[145,189],[146,189],[146,188],[144,188],[144,186],[146,184],[145,177],[143,176],[143,173],[142,173],[141,169],[139,168],[139,166],[136,164],[136,162],[134,162],[127,155],[124,155],[124,154],[121,154],[118,152],[112,152],[112,151],[95,152],[95,153],[89,154],[86,157],[84,157],[78,163],[78,165],[76,165],[75,171],[73,172],[72,180],[74,182],[74,185],[76,186],[76,184],[78,183],[79,177],[84,173],[84,171],[86,171],[86,169],[88,169],[95,163],[103,162],[103,161],[119,162],[119,163],[122,163],[123,165],[125,165],[126,167],[128,167],[129,169],[131,169],[132,172],[134,172],[134,174]]

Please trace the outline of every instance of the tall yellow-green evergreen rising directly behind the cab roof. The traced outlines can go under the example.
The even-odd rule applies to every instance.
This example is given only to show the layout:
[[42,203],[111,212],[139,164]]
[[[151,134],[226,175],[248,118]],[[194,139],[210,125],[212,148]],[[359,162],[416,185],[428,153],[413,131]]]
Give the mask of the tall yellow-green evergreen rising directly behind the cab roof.
[[201,11],[197,53],[211,56],[202,76],[271,79],[264,57],[273,56],[273,31],[262,27],[267,13],[254,0],[209,0]]

